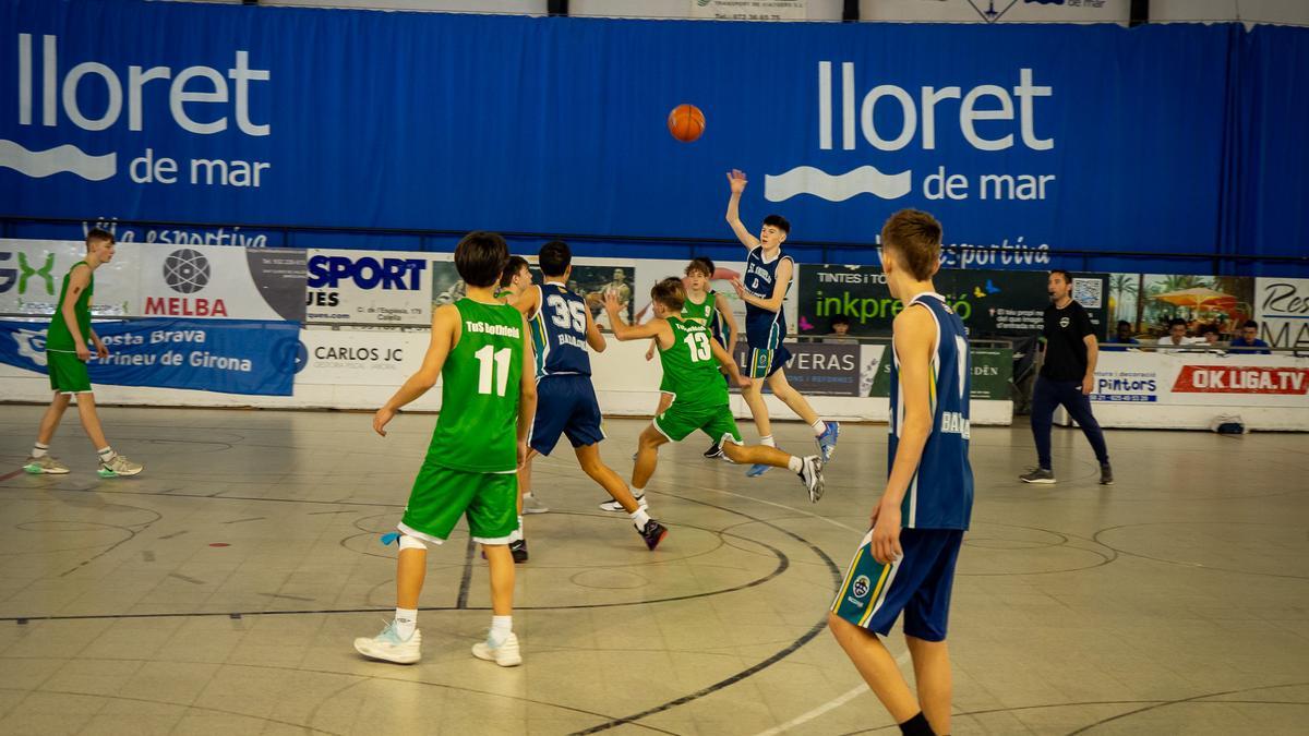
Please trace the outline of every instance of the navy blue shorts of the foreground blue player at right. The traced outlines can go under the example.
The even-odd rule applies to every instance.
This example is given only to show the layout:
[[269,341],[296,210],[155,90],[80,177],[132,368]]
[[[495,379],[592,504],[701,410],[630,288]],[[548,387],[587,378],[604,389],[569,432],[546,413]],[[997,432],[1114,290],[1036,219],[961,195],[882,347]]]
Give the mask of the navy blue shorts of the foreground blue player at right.
[[831,612],[882,636],[905,612],[906,635],[944,642],[963,530],[901,529],[905,557],[890,564],[873,559],[872,538],[869,530],[831,601]]

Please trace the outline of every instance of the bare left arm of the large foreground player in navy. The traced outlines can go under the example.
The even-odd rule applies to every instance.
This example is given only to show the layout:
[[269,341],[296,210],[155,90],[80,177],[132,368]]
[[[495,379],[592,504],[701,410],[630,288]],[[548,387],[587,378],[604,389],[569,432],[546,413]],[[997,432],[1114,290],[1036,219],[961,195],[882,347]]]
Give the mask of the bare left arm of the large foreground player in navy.
[[901,397],[905,403],[905,422],[899,427],[899,444],[886,478],[886,491],[873,509],[873,558],[882,564],[902,554],[901,502],[908,490],[923,448],[932,432],[932,407],[928,403],[931,382],[932,342],[936,339],[936,321],[925,306],[906,309],[895,317],[893,326],[895,354],[899,356]]

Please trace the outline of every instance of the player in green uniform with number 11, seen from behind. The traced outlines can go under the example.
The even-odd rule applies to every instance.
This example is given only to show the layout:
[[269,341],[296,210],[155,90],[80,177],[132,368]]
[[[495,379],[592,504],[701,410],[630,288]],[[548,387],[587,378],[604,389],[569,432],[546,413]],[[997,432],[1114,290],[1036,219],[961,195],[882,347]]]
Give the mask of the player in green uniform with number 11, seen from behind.
[[399,529],[395,618],[374,638],[355,639],[361,655],[412,664],[421,657],[418,602],[427,572],[427,545],[449,538],[459,517],[482,545],[491,568],[491,631],[473,655],[500,667],[522,663],[513,634],[513,557],[518,529],[518,465],[537,409],[528,323],[495,297],[509,249],[496,233],[471,232],[454,249],[454,267],[467,296],[432,314],[432,339],[423,367],[373,416],[386,424],[442,378],[441,416],[423,468],[414,481]]

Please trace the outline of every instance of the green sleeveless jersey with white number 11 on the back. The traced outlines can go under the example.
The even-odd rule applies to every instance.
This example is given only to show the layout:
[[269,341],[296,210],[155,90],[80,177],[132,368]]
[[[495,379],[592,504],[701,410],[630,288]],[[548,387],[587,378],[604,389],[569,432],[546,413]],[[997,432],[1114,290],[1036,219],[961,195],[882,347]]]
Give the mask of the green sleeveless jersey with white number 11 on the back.
[[507,304],[454,303],[459,342],[441,368],[441,416],[428,461],[469,473],[518,466],[522,314]]

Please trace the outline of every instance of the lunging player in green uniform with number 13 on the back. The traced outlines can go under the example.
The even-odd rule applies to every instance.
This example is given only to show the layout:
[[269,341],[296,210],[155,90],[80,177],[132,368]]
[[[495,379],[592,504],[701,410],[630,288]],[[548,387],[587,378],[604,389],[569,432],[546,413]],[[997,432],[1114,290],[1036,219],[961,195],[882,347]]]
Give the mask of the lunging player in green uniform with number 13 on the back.
[[732,462],[789,468],[809,491],[809,500],[817,503],[823,491],[822,460],[818,456],[796,457],[778,448],[747,447],[741,443],[741,432],[737,431],[728,406],[728,388],[719,365],[738,386],[746,386],[749,381],[741,376],[732,356],[712,338],[708,325],[679,317],[686,301],[682,280],[670,278],[658,282],[651,289],[651,300],[654,303],[654,318],[644,325],[628,325],[619,314],[622,305],[618,295],[610,292],[605,296],[605,310],[609,313],[609,323],[614,326],[615,338],[624,342],[654,338],[660,363],[664,365],[662,385],[673,394],[669,407],[641,432],[631,485],[637,500],[645,495],[645,483],[654,474],[658,447],[682,441],[700,430],[723,447],[723,453]]

